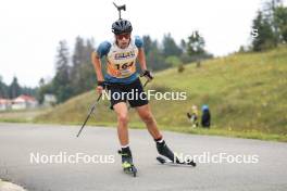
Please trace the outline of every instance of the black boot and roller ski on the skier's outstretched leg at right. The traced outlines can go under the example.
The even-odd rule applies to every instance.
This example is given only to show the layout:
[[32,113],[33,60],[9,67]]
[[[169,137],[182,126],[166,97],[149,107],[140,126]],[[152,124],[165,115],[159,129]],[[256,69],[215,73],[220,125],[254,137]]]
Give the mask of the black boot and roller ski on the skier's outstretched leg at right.
[[159,154],[161,155],[158,156],[157,160],[161,164],[185,165],[185,166],[194,166],[194,167],[197,165],[194,161],[180,162],[178,157],[175,156],[175,154],[172,152],[172,150],[166,145],[164,140],[162,142],[157,142],[157,149]]

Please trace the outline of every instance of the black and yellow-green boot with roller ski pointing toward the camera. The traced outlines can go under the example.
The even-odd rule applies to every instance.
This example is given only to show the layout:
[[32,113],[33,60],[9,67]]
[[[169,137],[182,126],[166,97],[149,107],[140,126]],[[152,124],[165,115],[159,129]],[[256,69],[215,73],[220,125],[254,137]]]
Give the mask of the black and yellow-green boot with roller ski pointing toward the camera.
[[133,163],[132,153],[128,150],[127,152],[120,151],[118,154],[122,155],[122,167],[124,173],[133,175],[134,177],[137,176],[137,168],[135,167]]

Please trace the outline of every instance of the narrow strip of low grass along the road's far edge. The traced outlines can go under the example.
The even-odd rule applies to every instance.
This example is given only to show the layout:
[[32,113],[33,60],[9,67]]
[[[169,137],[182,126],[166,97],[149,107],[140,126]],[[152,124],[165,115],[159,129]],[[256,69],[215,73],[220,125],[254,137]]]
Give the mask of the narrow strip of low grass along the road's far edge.
[[[27,111],[26,111],[27,112]],[[46,111],[47,112],[47,111]],[[30,112],[25,113],[22,112],[13,112],[13,115],[9,113],[5,117],[1,116],[0,122],[1,123],[35,123],[35,124],[52,124],[52,125],[77,125],[78,127],[82,126],[83,122],[53,122],[53,120],[39,120],[32,118],[29,116]],[[34,117],[37,117],[38,115],[41,115],[45,113],[45,111],[33,111]],[[3,114],[3,113],[1,113]],[[29,116],[29,117],[27,117]],[[102,127],[116,127],[116,123],[111,122],[100,122],[96,123],[89,122],[87,124],[88,126],[102,126]],[[133,129],[146,129],[146,126],[144,123],[140,122],[132,122],[129,124],[129,127]],[[259,139],[259,140],[266,140],[266,141],[282,141],[287,142],[287,136],[286,135],[276,135],[276,133],[264,133],[260,132],[258,130],[246,130],[246,131],[237,131],[230,128],[217,128],[217,127],[211,127],[210,129],[203,129],[203,128],[191,128],[190,126],[163,126],[160,125],[161,130],[167,130],[167,131],[174,131],[174,132],[183,132],[183,133],[190,133],[190,135],[207,135],[207,136],[223,136],[223,137],[234,137],[234,138],[246,138],[246,139]]]

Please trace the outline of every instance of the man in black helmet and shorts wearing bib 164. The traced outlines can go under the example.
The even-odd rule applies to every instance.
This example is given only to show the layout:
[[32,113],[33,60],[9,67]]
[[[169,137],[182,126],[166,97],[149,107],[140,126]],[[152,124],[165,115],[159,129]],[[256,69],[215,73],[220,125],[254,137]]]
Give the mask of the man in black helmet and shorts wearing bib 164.
[[[107,88],[110,91],[111,109],[117,116],[117,135],[121,143],[122,166],[124,169],[134,166],[133,155],[128,141],[128,106],[135,109],[141,120],[146,124],[149,133],[155,141],[159,154],[169,160],[177,160],[169,149],[160,132],[157,122],[151,113],[149,101],[145,94],[142,85],[136,72],[136,60],[138,60],[141,75],[148,80],[153,79],[147,69],[144,41],[140,37],[132,37],[132,24],[127,20],[120,18],[112,24],[114,40],[103,41],[92,52],[92,64],[95,66],[98,86],[97,92],[102,93]],[[101,59],[107,59],[107,74],[103,77]],[[134,98],[128,99],[126,93],[133,92]],[[115,98],[115,94],[123,97]]]

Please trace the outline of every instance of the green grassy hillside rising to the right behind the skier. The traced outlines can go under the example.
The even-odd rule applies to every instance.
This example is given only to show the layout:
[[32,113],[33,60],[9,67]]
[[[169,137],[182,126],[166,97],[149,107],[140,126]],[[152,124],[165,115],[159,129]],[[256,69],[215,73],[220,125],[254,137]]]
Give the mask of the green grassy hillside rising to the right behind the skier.
[[[287,140],[287,47],[262,53],[233,54],[155,74],[147,89],[185,91],[185,101],[151,100],[161,129],[187,133]],[[80,124],[96,92],[80,94],[35,118],[38,123]],[[209,104],[212,128],[190,129],[186,118],[192,104]],[[108,101],[97,105],[90,124],[116,126]],[[130,127],[144,128],[130,110]]]

